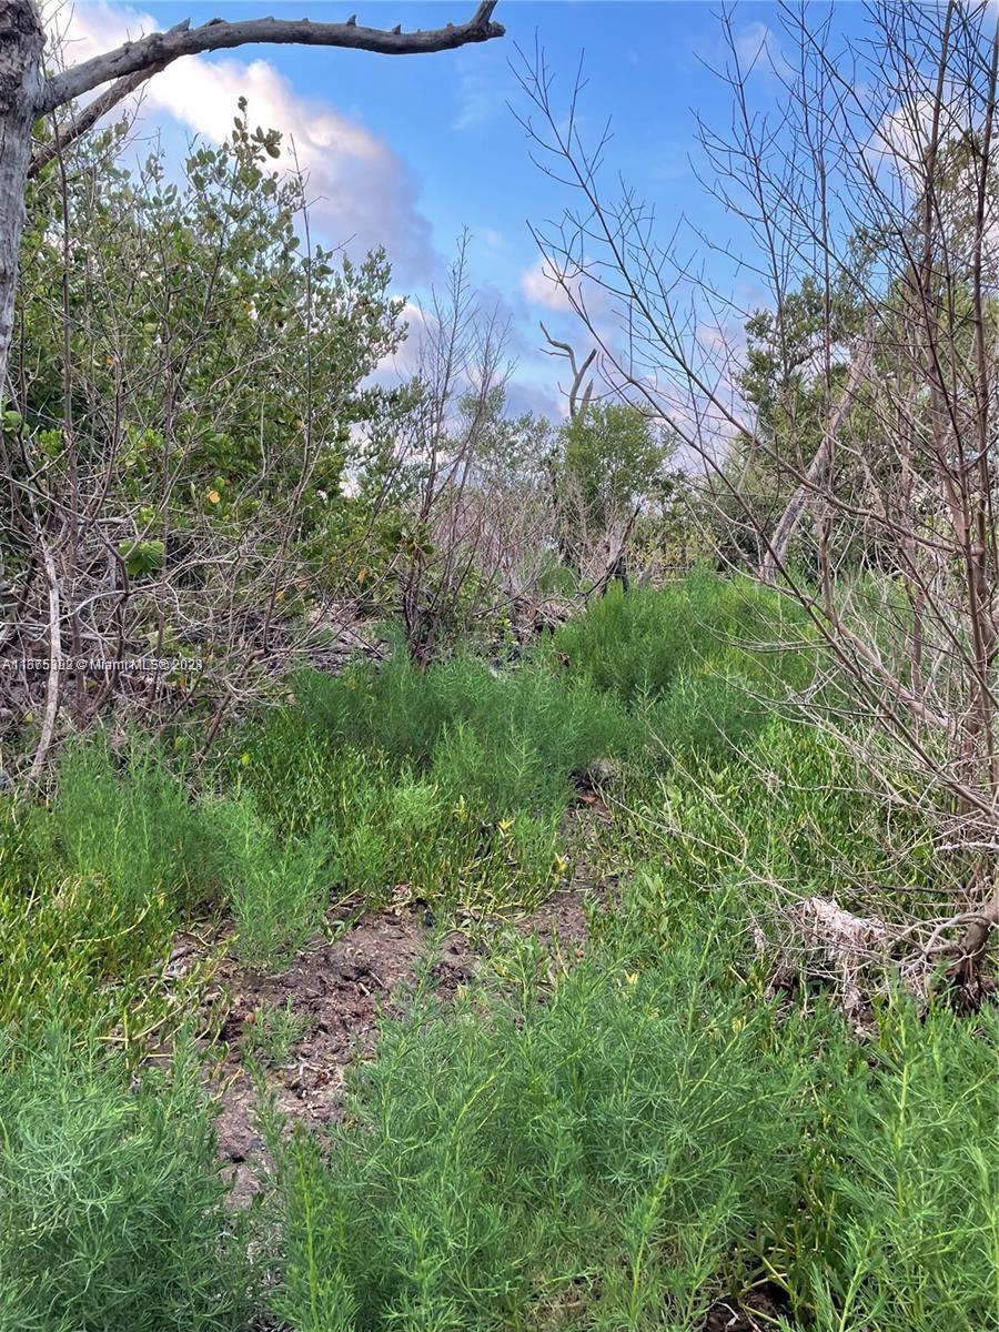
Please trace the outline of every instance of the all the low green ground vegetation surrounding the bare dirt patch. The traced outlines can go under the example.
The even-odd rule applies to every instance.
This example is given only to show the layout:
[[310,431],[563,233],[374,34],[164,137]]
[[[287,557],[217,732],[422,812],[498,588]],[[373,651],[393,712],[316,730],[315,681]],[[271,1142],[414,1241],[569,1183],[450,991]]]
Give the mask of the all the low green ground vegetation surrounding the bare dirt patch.
[[[749,646],[773,599],[697,575],[506,671],[306,675],[210,771],[88,741],[48,809],[8,801],[3,1327],[681,1329],[761,1283],[789,1327],[987,1325],[995,1011],[888,986],[858,1040],[835,986],[787,1002],[754,946],[774,882],[842,895],[900,863],[848,757],[781,715],[809,666]],[[598,761],[585,872],[621,887],[583,958],[501,930],[454,1000],[418,986],[325,1143],[281,1134],[264,1080],[274,1173],[226,1209],[197,978],[149,983],[173,931],[230,911],[237,955],[281,967],[396,884],[513,919],[565,878]]]

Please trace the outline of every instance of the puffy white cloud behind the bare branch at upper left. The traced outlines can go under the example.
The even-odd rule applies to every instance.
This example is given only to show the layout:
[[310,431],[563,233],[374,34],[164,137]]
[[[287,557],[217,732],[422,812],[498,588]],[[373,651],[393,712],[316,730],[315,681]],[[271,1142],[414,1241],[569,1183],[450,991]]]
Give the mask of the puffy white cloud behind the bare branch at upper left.
[[[161,25],[148,13],[101,0],[60,11],[49,27],[61,31],[64,59],[76,64]],[[325,240],[349,242],[346,249],[354,256],[385,245],[406,278],[432,270],[430,225],[417,206],[406,164],[329,103],[301,97],[268,60],[186,56],[149,81],[140,115],[166,115],[220,143],[232,128],[240,96],[248,100],[252,124],[281,131],[278,165],[290,169],[297,156],[308,176],[313,225]]]

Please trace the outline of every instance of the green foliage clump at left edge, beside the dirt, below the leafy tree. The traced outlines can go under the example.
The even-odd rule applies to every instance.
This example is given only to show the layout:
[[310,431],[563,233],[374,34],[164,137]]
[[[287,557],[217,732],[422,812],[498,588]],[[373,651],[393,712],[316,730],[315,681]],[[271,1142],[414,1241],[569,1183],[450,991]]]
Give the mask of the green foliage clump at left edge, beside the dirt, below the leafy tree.
[[0,801],[0,1028],[23,1042],[57,1012],[124,1039],[172,1006],[151,983],[184,914],[217,894],[218,846],[153,750],[116,769],[105,743],[69,749],[48,809]]

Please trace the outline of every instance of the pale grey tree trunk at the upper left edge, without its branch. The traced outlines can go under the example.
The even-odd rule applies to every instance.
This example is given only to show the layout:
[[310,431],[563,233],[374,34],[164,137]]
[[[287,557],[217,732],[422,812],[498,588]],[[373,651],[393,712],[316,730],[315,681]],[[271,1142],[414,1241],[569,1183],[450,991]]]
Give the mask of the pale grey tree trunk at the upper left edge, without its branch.
[[0,0],[0,398],[13,334],[17,250],[32,125],[41,103],[44,35],[31,0]]

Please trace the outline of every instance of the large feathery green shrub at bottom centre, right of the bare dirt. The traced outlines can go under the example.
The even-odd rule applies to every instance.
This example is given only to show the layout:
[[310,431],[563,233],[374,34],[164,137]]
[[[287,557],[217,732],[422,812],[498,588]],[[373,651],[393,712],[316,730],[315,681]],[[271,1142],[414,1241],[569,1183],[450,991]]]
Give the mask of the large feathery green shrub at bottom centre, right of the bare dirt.
[[793,1209],[771,1010],[706,983],[705,936],[626,936],[553,992],[389,1023],[329,1156],[277,1147],[296,1332],[690,1328],[761,1199]]

